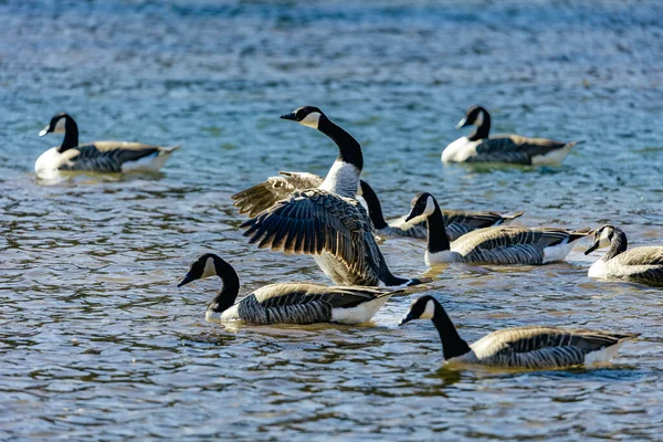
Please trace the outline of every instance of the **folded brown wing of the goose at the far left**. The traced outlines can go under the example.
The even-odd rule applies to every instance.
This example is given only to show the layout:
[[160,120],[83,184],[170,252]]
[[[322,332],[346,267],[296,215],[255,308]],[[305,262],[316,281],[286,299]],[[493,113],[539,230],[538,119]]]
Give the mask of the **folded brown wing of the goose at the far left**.
[[160,146],[140,143],[97,141],[66,150],[69,158],[61,169],[120,172],[123,164],[159,155],[160,150]]

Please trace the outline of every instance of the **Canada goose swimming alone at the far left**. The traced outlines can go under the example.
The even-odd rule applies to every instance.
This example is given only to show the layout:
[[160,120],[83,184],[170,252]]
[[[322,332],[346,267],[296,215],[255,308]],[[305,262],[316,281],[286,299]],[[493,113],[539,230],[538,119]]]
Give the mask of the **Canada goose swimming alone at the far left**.
[[34,164],[36,173],[52,170],[96,172],[157,171],[179,146],[161,147],[126,141],[94,141],[78,145],[78,126],[70,115],[61,113],[39,133],[64,133],[62,145],[43,152]]

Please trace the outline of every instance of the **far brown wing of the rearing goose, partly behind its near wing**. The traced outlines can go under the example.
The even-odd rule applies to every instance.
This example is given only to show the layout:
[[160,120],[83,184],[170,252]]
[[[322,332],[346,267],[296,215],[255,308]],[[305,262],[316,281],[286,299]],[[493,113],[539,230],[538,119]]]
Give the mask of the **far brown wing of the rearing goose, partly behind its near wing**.
[[263,210],[274,206],[276,201],[286,199],[297,190],[317,188],[323,178],[307,172],[278,172],[280,177],[270,177],[265,181],[242,190],[232,198],[240,213],[253,218]]

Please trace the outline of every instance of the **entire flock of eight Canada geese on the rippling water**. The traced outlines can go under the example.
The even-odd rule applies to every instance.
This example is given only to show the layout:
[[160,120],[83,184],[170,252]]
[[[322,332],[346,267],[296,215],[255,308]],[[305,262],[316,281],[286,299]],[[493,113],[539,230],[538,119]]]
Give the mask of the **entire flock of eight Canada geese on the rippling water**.
[[[178,286],[210,276],[221,278],[222,287],[207,309],[208,320],[254,325],[366,323],[391,296],[431,281],[391,273],[378,238],[393,235],[427,239],[424,259],[429,265],[449,262],[541,265],[565,260],[578,240],[593,234],[586,254],[599,248],[609,250],[591,265],[590,277],[663,283],[663,246],[627,250],[624,232],[613,225],[593,231],[505,225],[523,212],[445,211],[429,192],[412,199],[409,214],[387,222],[376,192],[360,179],[364,156],[350,134],[314,106],[299,107],[281,118],[325,134],[337,145],[338,157],[324,178],[308,172],[281,172],[232,196],[240,213],[250,217],[241,227],[249,241],[261,249],[313,255],[336,285],[271,284],[238,302],[236,272],[220,256],[207,253],[191,264]],[[442,161],[556,165],[576,145],[517,135],[490,137],[491,116],[478,106],[470,108],[457,127],[467,125],[475,125],[477,130],[450,144],[442,152]],[[64,133],[64,140],[36,160],[38,175],[59,170],[158,170],[177,149],[177,146],[119,141],[78,145],[76,123],[67,114],[55,115],[40,136],[49,133]],[[638,336],[534,326],[494,332],[469,345],[459,336],[442,305],[428,295],[410,305],[400,324],[413,319],[433,322],[445,364],[504,368],[606,362],[623,340]]]

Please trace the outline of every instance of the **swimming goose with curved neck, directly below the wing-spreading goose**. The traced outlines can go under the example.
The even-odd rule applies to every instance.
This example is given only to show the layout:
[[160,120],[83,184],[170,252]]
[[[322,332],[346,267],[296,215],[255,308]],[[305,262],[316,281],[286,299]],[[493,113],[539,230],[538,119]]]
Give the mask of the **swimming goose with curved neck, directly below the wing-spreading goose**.
[[281,283],[265,285],[235,302],[240,292],[238,273],[213,253],[198,256],[177,286],[214,275],[221,278],[221,290],[209,304],[206,319],[219,323],[361,324],[370,320],[387,299],[402,292],[379,287]]

